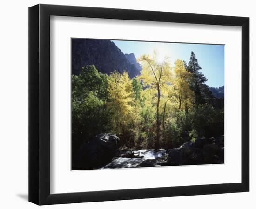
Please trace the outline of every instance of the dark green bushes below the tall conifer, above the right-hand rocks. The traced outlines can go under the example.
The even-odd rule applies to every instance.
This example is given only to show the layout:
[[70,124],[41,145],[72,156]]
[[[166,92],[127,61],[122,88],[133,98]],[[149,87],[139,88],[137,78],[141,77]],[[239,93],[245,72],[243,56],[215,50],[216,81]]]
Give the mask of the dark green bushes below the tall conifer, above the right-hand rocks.
[[224,112],[211,105],[198,105],[186,113],[179,111],[177,119],[165,125],[163,146],[166,149],[179,147],[197,137],[219,137],[224,134]]

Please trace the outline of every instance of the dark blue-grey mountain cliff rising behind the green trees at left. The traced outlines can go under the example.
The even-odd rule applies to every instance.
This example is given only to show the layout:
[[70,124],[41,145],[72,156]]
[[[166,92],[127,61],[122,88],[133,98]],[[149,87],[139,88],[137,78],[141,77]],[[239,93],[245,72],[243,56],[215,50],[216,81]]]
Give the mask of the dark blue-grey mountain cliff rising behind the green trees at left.
[[[128,72],[133,78],[140,74],[135,66],[128,61],[123,52],[111,40],[72,39],[72,74],[78,75],[82,67],[95,65],[101,73],[110,74],[113,71]],[[139,65],[139,64],[138,64]]]

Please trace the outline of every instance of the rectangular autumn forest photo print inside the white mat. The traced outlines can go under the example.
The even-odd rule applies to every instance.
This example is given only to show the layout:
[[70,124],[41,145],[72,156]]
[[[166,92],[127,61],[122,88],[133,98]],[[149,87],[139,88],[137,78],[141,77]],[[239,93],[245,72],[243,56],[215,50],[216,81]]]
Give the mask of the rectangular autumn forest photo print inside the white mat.
[[224,163],[224,48],[71,38],[72,170]]

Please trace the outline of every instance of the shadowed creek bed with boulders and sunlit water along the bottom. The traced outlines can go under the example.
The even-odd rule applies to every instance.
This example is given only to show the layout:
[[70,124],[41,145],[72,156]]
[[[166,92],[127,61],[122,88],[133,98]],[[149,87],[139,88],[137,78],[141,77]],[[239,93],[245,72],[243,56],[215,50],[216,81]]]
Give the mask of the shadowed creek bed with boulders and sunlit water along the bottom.
[[224,163],[224,136],[197,138],[170,150],[118,150],[114,134],[98,134],[78,150],[73,170]]

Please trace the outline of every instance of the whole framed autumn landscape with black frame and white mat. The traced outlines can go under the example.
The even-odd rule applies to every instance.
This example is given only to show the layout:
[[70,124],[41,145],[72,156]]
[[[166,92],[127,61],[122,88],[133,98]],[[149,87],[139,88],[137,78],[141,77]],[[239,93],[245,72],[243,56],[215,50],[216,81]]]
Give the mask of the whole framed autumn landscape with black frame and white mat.
[[29,8],[29,201],[249,191],[249,18]]

